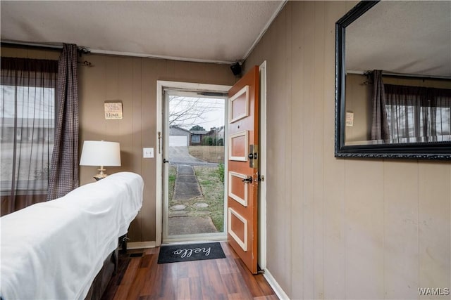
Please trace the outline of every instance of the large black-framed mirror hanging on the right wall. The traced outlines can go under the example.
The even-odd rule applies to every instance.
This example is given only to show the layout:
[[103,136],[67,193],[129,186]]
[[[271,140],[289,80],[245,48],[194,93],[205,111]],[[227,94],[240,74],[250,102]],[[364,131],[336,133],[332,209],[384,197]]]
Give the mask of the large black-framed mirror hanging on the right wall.
[[451,2],[362,1],[335,36],[335,157],[451,159]]

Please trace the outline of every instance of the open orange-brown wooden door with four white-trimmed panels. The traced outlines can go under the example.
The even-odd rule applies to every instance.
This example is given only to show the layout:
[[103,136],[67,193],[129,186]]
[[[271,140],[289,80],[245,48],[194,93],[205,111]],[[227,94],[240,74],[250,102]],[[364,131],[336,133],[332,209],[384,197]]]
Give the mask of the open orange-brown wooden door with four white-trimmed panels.
[[252,67],[228,96],[228,242],[256,274],[259,67]]

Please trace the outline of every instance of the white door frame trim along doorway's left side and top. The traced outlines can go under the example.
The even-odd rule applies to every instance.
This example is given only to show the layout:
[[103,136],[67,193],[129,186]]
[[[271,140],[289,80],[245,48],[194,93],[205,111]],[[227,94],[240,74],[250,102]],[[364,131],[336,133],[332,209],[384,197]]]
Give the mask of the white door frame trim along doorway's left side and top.
[[182,81],[156,81],[156,187],[155,187],[155,246],[161,246],[163,235],[163,92],[165,89],[211,91],[228,93],[232,86],[196,84]]

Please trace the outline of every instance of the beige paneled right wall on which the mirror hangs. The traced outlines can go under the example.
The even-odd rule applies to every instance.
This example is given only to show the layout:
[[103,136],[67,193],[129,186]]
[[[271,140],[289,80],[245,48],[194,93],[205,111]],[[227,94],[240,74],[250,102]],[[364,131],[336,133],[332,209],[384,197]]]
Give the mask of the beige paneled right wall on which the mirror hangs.
[[267,267],[291,299],[422,299],[451,285],[451,163],[334,157],[335,22],[355,4],[288,1],[245,63],[267,61]]

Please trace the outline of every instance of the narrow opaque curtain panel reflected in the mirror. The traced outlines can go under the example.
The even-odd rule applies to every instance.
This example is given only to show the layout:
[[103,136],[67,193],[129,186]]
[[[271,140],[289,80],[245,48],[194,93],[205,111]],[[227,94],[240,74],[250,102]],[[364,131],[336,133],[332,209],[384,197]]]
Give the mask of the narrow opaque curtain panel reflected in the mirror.
[[382,71],[373,71],[373,118],[371,124],[371,140],[388,141],[387,112],[385,108],[385,91],[382,81]]

